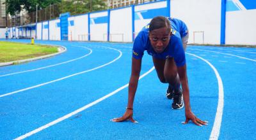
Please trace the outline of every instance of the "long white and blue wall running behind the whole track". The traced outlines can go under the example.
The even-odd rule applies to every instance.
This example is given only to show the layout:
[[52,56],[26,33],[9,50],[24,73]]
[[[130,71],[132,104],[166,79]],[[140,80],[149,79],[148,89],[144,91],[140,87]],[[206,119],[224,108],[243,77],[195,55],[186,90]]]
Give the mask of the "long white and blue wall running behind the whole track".
[[[132,42],[158,15],[183,20],[189,29],[188,43],[256,45],[256,3],[250,0],[161,0],[68,16],[68,40]],[[64,23],[58,26],[59,22],[37,23],[37,39],[60,40]],[[24,34],[18,28],[17,37]]]

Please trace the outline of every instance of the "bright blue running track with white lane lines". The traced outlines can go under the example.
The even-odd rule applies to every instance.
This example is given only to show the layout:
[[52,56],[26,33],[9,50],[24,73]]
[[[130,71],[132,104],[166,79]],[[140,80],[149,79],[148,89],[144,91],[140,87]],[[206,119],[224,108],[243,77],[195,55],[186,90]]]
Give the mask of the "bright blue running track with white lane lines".
[[209,122],[198,127],[182,125],[184,108],[171,109],[147,54],[134,101],[139,123],[110,121],[127,105],[131,43],[36,43],[67,52],[0,67],[0,139],[256,139],[255,48],[187,48],[191,108]]

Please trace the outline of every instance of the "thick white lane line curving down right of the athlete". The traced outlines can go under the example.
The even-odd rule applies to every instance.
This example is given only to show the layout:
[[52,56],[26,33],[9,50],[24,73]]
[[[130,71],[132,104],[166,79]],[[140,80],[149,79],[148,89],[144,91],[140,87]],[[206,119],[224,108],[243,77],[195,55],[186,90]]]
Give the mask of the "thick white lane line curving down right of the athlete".
[[217,111],[216,111],[216,115],[215,115],[215,120],[214,120],[214,125],[212,127],[212,132],[211,132],[211,136],[209,139],[218,139],[219,135],[220,135],[220,127],[221,127],[221,121],[222,121],[222,115],[223,115],[223,105],[224,105],[224,90],[223,90],[223,83],[220,77],[220,74],[218,73],[217,69],[212,66],[212,64],[203,59],[202,57],[198,57],[192,53],[188,53],[189,55],[193,55],[194,57],[197,57],[198,59],[204,60],[204,62],[206,62],[207,64],[209,64],[209,66],[213,69],[216,78],[218,80],[218,87],[219,87],[219,98],[218,98],[218,107],[217,107]]

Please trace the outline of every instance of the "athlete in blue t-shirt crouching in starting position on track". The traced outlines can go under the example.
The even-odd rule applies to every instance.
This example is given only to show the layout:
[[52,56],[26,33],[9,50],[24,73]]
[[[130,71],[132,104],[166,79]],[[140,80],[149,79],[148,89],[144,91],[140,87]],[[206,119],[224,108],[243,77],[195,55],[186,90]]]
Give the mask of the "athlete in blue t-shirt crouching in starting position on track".
[[[188,28],[176,18],[154,17],[138,34],[133,44],[132,72],[129,81],[128,104],[124,115],[114,118],[113,122],[123,122],[133,118],[133,101],[141,71],[141,59],[147,50],[152,55],[157,76],[162,83],[169,83],[166,92],[168,99],[173,99],[172,109],[181,109],[185,104],[186,121],[196,125],[207,125],[191,111],[189,102],[188,77],[186,72],[185,52],[188,43]],[[181,88],[182,87],[182,88]],[[184,103],[183,103],[184,97]]]

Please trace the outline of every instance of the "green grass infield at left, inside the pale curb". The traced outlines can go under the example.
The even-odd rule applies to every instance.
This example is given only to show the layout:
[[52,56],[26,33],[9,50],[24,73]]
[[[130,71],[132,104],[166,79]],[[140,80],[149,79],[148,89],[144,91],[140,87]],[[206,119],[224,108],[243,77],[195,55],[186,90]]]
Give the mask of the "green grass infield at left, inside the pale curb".
[[58,48],[55,46],[0,41],[0,62],[31,59],[56,52],[58,52]]

